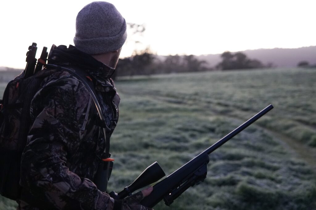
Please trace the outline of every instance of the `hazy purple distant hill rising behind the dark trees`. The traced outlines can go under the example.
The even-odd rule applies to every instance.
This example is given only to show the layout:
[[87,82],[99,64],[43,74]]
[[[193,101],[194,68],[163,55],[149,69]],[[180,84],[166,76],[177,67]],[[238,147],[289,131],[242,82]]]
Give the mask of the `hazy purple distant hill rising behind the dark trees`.
[[[277,67],[295,67],[302,60],[310,64],[316,64],[316,46],[286,49],[256,49],[241,51],[250,59],[258,59],[264,64],[273,63]],[[206,60],[210,67],[221,61],[221,54],[209,54],[197,56],[200,60]]]

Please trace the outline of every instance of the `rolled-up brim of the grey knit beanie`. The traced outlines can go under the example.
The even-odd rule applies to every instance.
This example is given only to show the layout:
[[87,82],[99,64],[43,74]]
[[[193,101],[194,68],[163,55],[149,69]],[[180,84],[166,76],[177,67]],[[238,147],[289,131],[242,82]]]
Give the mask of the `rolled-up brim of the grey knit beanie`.
[[123,27],[116,36],[97,37],[92,39],[79,39],[74,37],[74,43],[78,50],[87,54],[96,55],[118,50],[123,46],[126,38],[126,23],[124,20]]

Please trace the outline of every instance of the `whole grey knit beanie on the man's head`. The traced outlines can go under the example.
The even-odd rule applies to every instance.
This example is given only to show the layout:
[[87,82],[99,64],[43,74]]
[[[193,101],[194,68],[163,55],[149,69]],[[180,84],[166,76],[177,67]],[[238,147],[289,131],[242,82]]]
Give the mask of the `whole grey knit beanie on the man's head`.
[[125,43],[126,22],[113,4],[92,2],[76,18],[75,47],[87,54],[118,50]]

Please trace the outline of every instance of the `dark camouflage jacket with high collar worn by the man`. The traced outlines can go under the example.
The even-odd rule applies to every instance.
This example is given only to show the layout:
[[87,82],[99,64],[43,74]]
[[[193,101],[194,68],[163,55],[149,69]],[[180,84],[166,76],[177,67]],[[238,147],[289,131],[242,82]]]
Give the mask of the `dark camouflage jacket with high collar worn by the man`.
[[[120,101],[109,78],[114,69],[73,46],[59,46],[49,63],[88,73],[112,134]],[[67,71],[46,77],[32,100],[30,116],[32,124],[21,158],[18,208],[112,209],[114,200],[93,183],[105,139],[96,123],[94,102],[82,82]]]

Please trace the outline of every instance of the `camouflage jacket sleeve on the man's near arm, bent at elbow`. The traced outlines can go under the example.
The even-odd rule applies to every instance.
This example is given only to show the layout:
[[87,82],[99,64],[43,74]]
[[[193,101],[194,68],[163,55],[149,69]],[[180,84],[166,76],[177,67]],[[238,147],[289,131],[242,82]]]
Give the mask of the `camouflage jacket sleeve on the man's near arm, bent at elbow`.
[[92,99],[73,77],[47,81],[31,105],[33,125],[21,159],[21,185],[54,209],[110,210],[114,200],[67,167],[83,140]]

